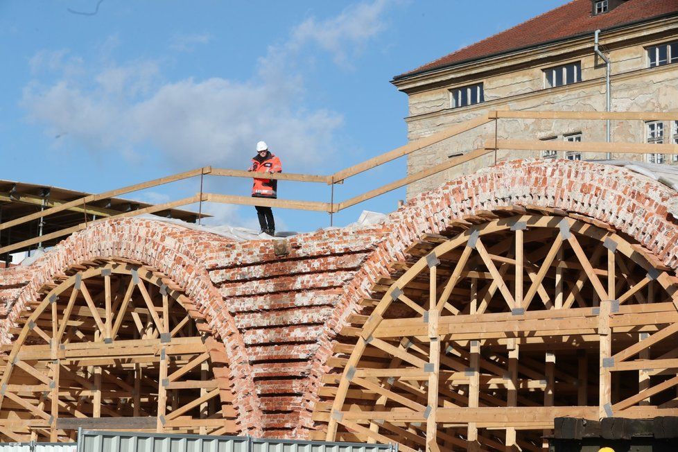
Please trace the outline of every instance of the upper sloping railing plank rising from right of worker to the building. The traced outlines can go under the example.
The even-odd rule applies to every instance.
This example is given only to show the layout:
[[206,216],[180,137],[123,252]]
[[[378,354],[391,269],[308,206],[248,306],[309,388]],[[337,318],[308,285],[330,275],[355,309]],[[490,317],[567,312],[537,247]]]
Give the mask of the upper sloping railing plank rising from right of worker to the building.
[[408,155],[410,153],[415,152],[416,150],[426,148],[426,146],[431,146],[431,144],[435,144],[449,137],[453,137],[460,133],[467,132],[467,130],[471,130],[480,125],[485,125],[490,121],[492,121],[492,119],[489,119],[487,115],[482,115],[478,116],[475,119],[465,121],[464,123],[451,125],[449,128],[445,128],[440,132],[436,132],[434,134],[429,135],[428,137],[424,137],[416,141],[410,141],[408,144],[400,146],[399,148],[396,148],[394,150],[391,150],[388,153],[378,155],[377,157],[373,157],[372,159],[365,160],[365,162],[361,162],[357,165],[350,166],[349,168],[345,168],[341,171],[337,171],[330,177],[333,179],[335,183],[340,182],[356,174],[363,173],[363,171],[376,168],[376,166],[385,164],[399,157],[403,157],[403,155]]

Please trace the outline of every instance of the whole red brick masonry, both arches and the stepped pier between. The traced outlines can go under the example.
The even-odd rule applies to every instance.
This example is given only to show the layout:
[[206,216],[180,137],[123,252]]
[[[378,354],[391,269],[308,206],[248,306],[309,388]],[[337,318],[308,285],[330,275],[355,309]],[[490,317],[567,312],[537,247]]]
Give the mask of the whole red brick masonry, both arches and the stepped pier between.
[[[68,266],[124,257],[182,286],[226,345],[243,431],[302,439],[327,372],[332,340],[386,266],[423,234],[455,218],[507,205],[556,207],[632,236],[672,268],[678,193],[623,168],[522,160],[421,194],[383,225],[326,229],[284,240],[235,243],[153,220],[110,220],[74,234],[29,267],[0,270],[0,343],[37,289]],[[280,245],[280,243],[279,243]]]

